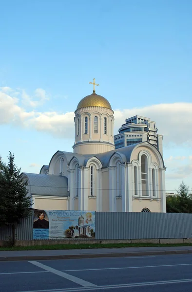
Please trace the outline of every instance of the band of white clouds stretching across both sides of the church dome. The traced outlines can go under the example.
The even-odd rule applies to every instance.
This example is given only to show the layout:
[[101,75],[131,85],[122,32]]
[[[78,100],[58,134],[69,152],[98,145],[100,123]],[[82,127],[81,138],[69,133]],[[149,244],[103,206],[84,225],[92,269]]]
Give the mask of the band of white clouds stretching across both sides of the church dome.
[[[8,93],[5,93],[8,91]],[[21,95],[17,93],[21,92]],[[17,96],[17,97],[16,97]],[[20,99],[19,99],[20,97]],[[74,137],[74,112],[59,113],[56,111],[27,111],[25,106],[36,107],[47,100],[43,89],[36,89],[31,97],[25,91],[17,88],[0,90],[0,124],[12,124],[25,128],[35,128],[60,138]],[[23,107],[19,106],[23,101]],[[74,109],[75,110],[75,109]],[[115,133],[125,119],[136,114],[150,117],[156,122],[158,133],[163,135],[163,145],[169,143],[192,146],[192,103],[173,103],[147,106],[144,108],[115,110]],[[192,156],[190,156],[192,159]],[[170,157],[169,160],[185,160],[185,156]]]

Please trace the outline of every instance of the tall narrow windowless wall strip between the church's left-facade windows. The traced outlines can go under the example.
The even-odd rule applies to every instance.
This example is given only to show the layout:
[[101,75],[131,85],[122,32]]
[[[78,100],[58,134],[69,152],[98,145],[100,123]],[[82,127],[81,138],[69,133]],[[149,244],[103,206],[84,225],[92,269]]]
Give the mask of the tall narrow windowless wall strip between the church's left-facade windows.
[[102,212],[109,212],[109,171],[102,172]]

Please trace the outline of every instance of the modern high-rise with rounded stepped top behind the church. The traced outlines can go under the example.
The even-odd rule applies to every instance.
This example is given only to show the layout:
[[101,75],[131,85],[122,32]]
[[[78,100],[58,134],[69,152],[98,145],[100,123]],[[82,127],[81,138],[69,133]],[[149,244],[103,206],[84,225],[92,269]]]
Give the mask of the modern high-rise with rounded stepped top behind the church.
[[163,136],[157,134],[156,123],[150,118],[135,115],[125,120],[114,136],[115,149],[148,141],[163,155]]

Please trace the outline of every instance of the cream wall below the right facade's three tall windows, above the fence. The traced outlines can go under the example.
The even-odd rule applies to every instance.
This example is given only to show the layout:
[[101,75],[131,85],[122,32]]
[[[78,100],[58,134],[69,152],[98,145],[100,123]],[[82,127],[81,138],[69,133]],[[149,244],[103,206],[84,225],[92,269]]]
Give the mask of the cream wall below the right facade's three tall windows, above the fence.
[[143,208],[148,208],[151,212],[162,212],[160,201],[134,199],[132,202],[132,212],[141,212]]

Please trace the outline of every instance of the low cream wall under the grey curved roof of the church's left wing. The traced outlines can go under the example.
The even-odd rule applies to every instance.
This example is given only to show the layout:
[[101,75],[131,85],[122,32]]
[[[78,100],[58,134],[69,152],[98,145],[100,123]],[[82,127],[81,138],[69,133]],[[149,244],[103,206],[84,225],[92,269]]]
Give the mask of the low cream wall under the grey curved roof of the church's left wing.
[[68,210],[67,198],[66,199],[35,199],[35,209],[41,210]]

